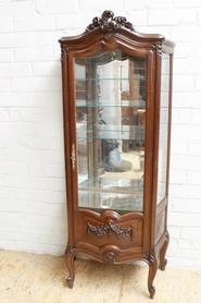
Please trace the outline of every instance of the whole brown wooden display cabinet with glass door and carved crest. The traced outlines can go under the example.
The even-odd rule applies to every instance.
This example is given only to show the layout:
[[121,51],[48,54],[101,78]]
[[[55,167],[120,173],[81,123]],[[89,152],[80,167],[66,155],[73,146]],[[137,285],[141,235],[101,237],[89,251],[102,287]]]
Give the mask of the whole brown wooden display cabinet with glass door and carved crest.
[[98,262],[165,269],[174,44],[104,11],[60,39],[68,243]]

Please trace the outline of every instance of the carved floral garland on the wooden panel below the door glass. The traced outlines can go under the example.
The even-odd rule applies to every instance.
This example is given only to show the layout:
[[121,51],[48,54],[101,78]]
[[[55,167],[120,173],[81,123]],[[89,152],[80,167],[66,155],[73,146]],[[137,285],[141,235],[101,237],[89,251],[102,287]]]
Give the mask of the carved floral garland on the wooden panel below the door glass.
[[98,237],[103,237],[105,234],[111,235],[111,233],[114,233],[117,238],[126,238],[133,237],[133,228],[118,227],[113,225],[112,222],[101,226],[93,226],[92,223],[87,222],[87,233],[95,233]]

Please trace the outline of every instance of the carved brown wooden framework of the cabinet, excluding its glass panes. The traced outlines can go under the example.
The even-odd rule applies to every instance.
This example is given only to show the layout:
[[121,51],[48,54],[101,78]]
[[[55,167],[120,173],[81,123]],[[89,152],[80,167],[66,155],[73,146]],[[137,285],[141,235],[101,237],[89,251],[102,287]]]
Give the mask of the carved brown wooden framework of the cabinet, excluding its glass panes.
[[[168,150],[166,196],[156,205],[160,93],[162,52],[171,54],[174,44],[161,35],[142,35],[134,31],[124,17],[114,17],[113,12],[103,12],[100,19],[93,19],[86,32],[79,36],[60,39],[62,50],[63,117],[65,143],[65,171],[67,192],[68,244],[65,256],[70,271],[68,286],[74,283],[74,258],[78,252],[99,262],[114,264],[145,260],[149,265],[148,289],[154,296],[153,279],[158,266],[165,268],[165,253],[168,245],[166,228],[168,163],[171,138],[171,95],[168,116]],[[78,208],[77,163],[76,163],[76,116],[74,87],[74,58],[111,51],[120,48],[129,56],[139,56],[147,62],[147,111],[146,150],[145,150],[145,193],[143,214],[127,213],[120,215],[114,210],[98,214],[91,209]],[[172,83],[172,68],[169,72]],[[162,220],[162,218],[165,218]],[[90,223],[89,223],[90,221]],[[92,222],[92,223],[91,223]],[[160,222],[164,225],[162,233]],[[131,240],[130,227],[135,232]],[[159,230],[159,231],[158,231]],[[110,237],[105,238],[106,232]],[[103,234],[102,234],[103,233]],[[158,238],[158,239],[156,239]]]

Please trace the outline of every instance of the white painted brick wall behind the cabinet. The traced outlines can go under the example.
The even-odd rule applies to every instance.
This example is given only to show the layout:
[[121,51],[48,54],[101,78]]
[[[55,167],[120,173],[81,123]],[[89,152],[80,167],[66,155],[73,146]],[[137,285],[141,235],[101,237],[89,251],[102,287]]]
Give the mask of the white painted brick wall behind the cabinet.
[[64,252],[58,39],[83,32],[104,9],[176,43],[168,259],[201,268],[200,0],[0,1],[0,247]]

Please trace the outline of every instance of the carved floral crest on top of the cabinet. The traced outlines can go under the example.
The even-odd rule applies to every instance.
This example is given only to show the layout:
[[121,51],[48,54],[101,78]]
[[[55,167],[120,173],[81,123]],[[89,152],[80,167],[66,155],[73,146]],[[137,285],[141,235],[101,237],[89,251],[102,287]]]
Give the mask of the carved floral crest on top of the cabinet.
[[92,23],[87,26],[86,32],[92,31],[95,28],[101,28],[104,32],[112,32],[116,28],[125,27],[134,32],[133,24],[127,22],[124,16],[114,16],[112,11],[104,11],[101,17],[93,17]]

